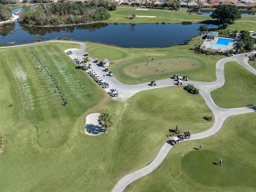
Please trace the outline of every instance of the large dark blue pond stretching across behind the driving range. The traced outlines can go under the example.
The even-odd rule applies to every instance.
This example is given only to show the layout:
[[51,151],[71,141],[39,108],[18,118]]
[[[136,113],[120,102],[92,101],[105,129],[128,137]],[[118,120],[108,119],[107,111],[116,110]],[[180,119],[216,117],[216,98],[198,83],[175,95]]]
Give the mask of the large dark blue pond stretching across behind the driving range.
[[[113,44],[124,48],[144,48],[174,46],[199,35],[197,30],[202,24],[88,24],[66,27],[27,27],[18,22],[0,25],[0,42],[16,44],[32,42],[43,38],[51,40],[74,39],[80,41]],[[216,25],[208,25],[217,28]]]

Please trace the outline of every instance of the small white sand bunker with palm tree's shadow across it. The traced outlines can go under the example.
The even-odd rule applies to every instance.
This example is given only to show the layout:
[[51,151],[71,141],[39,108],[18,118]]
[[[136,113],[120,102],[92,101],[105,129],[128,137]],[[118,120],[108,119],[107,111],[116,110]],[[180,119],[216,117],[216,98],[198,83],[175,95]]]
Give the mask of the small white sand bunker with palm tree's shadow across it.
[[98,123],[99,116],[99,113],[92,113],[86,116],[86,125],[84,129],[86,134],[96,136],[104,132],[104,128],[102,128]]

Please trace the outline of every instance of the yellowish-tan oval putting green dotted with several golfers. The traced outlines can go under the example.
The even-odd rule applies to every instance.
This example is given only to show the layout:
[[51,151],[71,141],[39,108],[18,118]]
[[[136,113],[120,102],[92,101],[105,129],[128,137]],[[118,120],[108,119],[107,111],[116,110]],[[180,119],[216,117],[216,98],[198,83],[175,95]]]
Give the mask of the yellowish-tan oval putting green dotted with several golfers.
[[[163,64],[161,63],[163,61]],[[196,65],[194,65],[196,62]],[[147,64],[148,63],[148,64]],[[138,66],[138,68],[136,67]],[[174,71],[184,71],[184,70],[192,70],[199,68],[201,63],[196,59],[191,58],[164,58],[164,59],[144,59],[139,63],[135,63],[124,68],[124,73],[128,76],[139,78],[139,77],[149,77],[158,74],[163,74],[164,69],[166,69],[166,73],[174,72]],[[185,75],[185,74],[184,74]]]

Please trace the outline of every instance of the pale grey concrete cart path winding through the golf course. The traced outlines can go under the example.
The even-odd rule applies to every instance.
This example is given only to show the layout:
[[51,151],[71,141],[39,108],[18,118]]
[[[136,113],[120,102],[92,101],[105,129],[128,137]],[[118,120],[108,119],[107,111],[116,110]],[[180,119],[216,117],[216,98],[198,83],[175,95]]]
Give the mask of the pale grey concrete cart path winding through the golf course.
[[[86,48],[84,43],[57,41],[57,40],[50,41],[50,42],[78,43],[78,44],[80,44],[80,49],[72,51],[73,54],[70,55],[70,57],[72,59],[74,59],[76,56],[78,56],[80,58],[84,57],[84,52],[85,52],[85,48]],[[40,44],[40,43],[35,43],[35,44]],[[20,46],[26,46],[26,45],[20,45]],[[15,47],[18,47],[18,46],[15,46]],[[5,47],[5,48],[12,48],[12,46]],[[210,110],[212,110],[212,113],[214,114],[215,122],[209,130],[207,130],[205,132],[197,133],[197,134],[191,134],[191,138],[187,139],[187,140],[196,140],[196,139],[210,137],[210,136],[216,134],[220,130],[223,122],[229,116],[245,114],[245,113],[256,111],[255,105],[243,107],[243,108],[231,108],[231,109],[220,108],[214,103],[214,101],[212,100],[212,98],[210,96],[210,93],[213,90],[222,87],[225,83],[224,64],[226,62],[236,61],[241,66],[243,66],[244,68],[249,70],[250,72],[256,74],[256,70],[248,64],[247,61],[249,58],[246,57],[246,55],[247,54],[237,54],[237,55],[219,60],[216,63],[216,78],[217,78],[217,80],[215,82],[189,81],[189,83],[192,83],[196,88],[200,89],[200,94],[202,95],[206,104],[208,105]],[[110,89],[118,90],[118,97],[113,98],[114,100],[120,100],[120,101],[128,100],[128,98],[130,98],[131,96],[133,96],[134,94],[136,94],[142,90],[149,90],[149,89],[167,87],[167,86],[176,86],[176,81],[174,81],[171,78],[156,81],[156,84],[157,84],[156,86],[149,86],[148,84],[150,82],[137,84],[137,85],[122,84],[114,76],[112,76],[112,77],[108,76],[108,73],[104,71],[104,68],[102,68],[98,64],[94,63],[94,58],[91,58],[91,57],[89,57],[89,58],[92,61],[90,63],[92,64],[92,68],[96,72],[96,74],[98,74],[102,79],[104,79],[109,84],[109,88],[105,89],[106,92],[109,92]],[[188,84],[188,82],[184,82],[184,85],[187,85],[187,84]],[[171,150],[172,147],[173,146],[170,144],[170,140],[167,141],[160,149],[156,158],[148,166],[124,176],[121,180],[118,181],[116,186],[114,186],[114,188],[112,189],[112,192],[122,192],[130,183],[132,183],[135,180],[156,170],[156,168],[158,168],[158,166],[162,163],[162,161],[164,160],[164,158],[166,157],[166,155],[168,154],[168,152]]]

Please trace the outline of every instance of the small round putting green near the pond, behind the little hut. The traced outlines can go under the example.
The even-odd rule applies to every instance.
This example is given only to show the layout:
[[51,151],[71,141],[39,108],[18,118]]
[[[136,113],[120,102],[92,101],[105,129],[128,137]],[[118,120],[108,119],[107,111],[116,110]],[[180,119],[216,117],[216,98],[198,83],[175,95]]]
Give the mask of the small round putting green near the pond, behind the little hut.
[[[112,47],[99,47],[91,51],[99,60],[107,58],[108,60],[117,60],[125,57],[125,53]],[[114,62],[114,61],[111,61]]]

